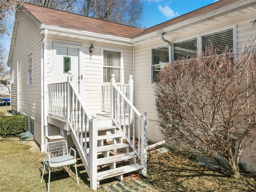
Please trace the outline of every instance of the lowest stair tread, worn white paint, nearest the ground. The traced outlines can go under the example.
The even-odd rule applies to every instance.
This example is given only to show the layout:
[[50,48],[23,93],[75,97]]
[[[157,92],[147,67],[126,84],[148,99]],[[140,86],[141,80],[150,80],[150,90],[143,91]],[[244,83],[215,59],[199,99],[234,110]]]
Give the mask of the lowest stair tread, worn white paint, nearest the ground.
[[100,180],[103,180],[103,179],[119,176],[119,175],[122,175],[122,174],[126,174],[126,173],[130,173],[130,172],[140,170],[142,168],[143,168],[142,165],[130,164],[130,165],[118,167],[118,168],[115,168],[115,169],[110,169],[110,170],[98,172],[97,173],[97,180],[100,181]]

